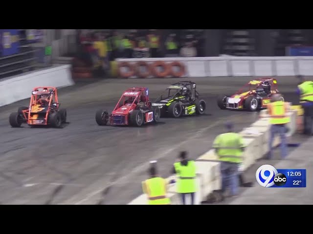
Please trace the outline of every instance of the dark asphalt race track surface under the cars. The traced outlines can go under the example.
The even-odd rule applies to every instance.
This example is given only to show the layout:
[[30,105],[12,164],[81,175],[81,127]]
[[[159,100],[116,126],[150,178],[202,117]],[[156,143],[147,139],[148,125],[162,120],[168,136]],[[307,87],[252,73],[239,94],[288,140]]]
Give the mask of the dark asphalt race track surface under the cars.
[[[150,160],[159,174],[170,176],[179,151],[197,158],[211,148],[231,120],[241,131],[256,113],[220,110],[216,96],[235,92],[251,78],[190,78],[207,103],[203,116],[161,118],[143,127],[98,126],[97,109],[112,111],[122,92],[134,86],[149,88],[153,100],[178,78],[106,79],[61,89],[68,124],[62,129],[11,128],[8,117],[22,100],[0,107],[0,203],[2,204],[127,204],[141,192]],[[278,87],[287,101],[297,103],[296,80],[280,77]]]

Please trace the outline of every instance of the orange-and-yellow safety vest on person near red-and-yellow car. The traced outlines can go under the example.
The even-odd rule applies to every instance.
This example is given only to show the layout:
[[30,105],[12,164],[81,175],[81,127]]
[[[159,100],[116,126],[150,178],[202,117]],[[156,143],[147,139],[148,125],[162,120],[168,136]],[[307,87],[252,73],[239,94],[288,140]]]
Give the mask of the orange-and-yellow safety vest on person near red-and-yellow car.
[[271,124],[285,124],[290,122],[287,116],[285,103],[283,101],[275,101],[268,104],[269,122]]

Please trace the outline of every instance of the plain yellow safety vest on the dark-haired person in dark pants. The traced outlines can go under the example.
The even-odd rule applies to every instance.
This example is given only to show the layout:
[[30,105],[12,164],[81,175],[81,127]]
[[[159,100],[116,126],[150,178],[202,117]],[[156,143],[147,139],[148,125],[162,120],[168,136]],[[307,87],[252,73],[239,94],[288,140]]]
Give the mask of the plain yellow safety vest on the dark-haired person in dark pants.
[[179,177],[177,181],[177,193],[185,194],[197,192],[195,161],[188,161],[187,166],[176,162],[174,163],[174,167]]

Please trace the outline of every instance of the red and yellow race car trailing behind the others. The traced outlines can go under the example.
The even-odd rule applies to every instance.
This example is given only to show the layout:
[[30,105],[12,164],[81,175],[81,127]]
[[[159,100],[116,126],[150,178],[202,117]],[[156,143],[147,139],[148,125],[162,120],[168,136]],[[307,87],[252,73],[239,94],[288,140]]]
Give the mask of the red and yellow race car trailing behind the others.
[[[217,105],[222,109],[257,111],[266,108],[273,94],[278,94],[277,80],[259,78],[251,80],[233,95],[219,95]],[[284,98],[281,97],[284,101]]]

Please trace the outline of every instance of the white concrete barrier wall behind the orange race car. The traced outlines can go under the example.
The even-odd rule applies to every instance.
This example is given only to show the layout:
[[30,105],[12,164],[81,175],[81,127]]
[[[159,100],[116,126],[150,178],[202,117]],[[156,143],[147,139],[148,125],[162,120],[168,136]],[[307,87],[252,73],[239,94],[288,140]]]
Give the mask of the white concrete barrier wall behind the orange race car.
[[30,98],[36,86],[60,88],[73,85],[69,69],[70,65],[62,65],[0,80],[0,106]]

